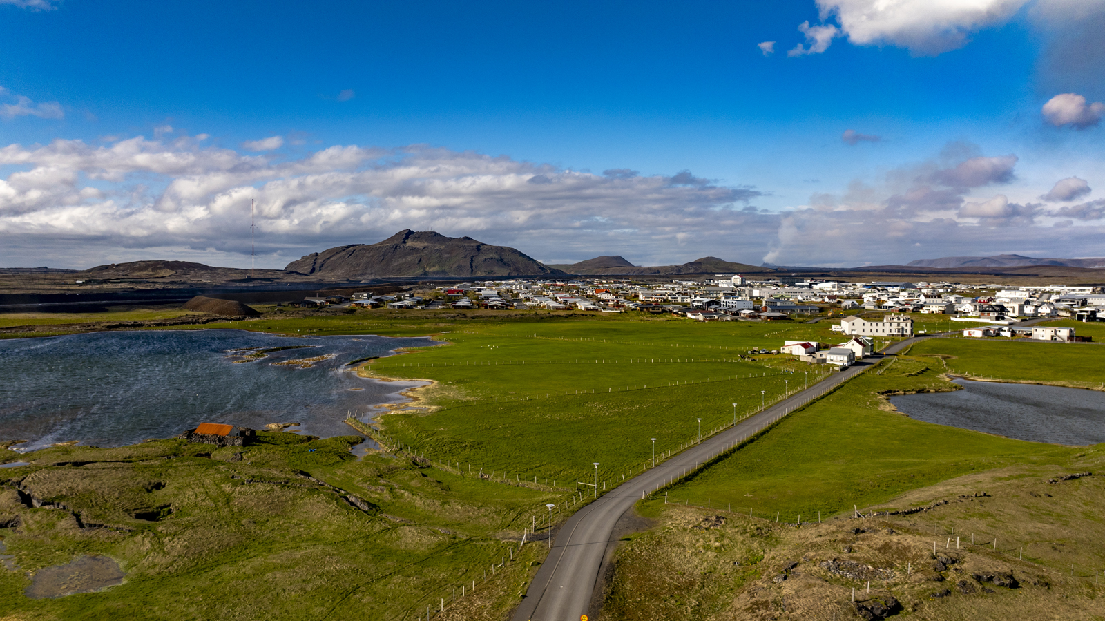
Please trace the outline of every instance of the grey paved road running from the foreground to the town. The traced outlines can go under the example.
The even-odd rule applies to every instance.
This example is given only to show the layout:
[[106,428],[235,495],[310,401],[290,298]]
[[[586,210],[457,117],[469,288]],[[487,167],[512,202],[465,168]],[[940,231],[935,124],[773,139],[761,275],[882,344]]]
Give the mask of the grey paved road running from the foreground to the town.
[[[895,343],[884,351],[896,354],[924,338],[914,337]],[[671,480],[751,438],[796,408],[863,372],[881,358],[881,355],[876,355],[844,371],[832,373],[810,388],[745,419],[736,427],[703,440],[701,444],[634,476],[579,509],[557,533],[552,551],[529,585],[526,598],[514,613],[514,621],[575,621],[580,614],[594,618],[599,611],[588,610],[588,606],[591,603],[591,594],[614,525],[643,494],[663,487]]]

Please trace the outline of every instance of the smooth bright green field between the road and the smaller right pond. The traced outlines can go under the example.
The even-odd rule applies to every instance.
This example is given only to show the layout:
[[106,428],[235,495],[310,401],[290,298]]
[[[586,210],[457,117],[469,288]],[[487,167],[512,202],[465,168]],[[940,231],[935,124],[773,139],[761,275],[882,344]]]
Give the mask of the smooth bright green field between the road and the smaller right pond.
[[[941,339],[949,345],[958,340]],[[937,341],[925,341],[926,345]],[[971,345],[1002,345],[983,343]],[[1017,345],[1017,344],[1012,344]],[[886,362],[883,362],[885,366]],[[934,368],[935,367],[935,368]],[[886,502],[971,472],[1022,463],[1064,463],[1078,449],[1009,440],[913,420],[890,411],[883,392],[948,390],[939,360],[898,357],[783,419],[771,431],[671,487],[673,503],[796,522]],[[655,503],[652,501],[655,511]]]

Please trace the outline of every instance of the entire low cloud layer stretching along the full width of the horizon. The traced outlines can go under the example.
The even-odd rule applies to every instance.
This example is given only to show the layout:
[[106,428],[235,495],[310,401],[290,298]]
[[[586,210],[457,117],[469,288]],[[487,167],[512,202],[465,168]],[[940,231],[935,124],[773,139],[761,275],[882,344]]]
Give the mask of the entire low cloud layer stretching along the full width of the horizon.
[[[809,206],[775,212],[751,204],[762,196],[754,187],[686,170],[599,175],[424,145],[332,146],[291,158],[169,133],[0,148],[0,166],[13,170],[0,179],[0,261],[87,267],[161,252],[241,265],[250,199],[262,264],[272,267],[401,229],[471,235],[549,262],[622,254],[672,264],[713,254],[859,265],[916,259],[917,243],[933,249],[924,255],[967,248],[1055,254],[1074,248],[1072,239],[1083,252],[1105,251],[1099,201],[1059,210],[1011,201],[989,188],[1015,179],[1017,156],[985,156],[970,145],[892,170],[877,187],[853,181],[841,196],[814,194]],[[246,146],[272,148],[277,138]]]

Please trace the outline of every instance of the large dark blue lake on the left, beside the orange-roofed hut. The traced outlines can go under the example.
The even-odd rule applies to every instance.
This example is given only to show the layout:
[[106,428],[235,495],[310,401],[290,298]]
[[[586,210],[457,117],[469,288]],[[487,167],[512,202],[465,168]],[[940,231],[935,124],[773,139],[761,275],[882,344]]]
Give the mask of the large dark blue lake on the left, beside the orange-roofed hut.
[[[301,427],[290,430],[351,435],[356,432],[344,422],[347,411],[368,420],[373,406],[403,401],[400,391],[423,382],[361,378],[345,365],[432,344],[429,338],[285,337],[244,330],[0,340],[0,441],[27,440],[17,445],[20,451],[73,440],[117,446],[177,435],[200,422],[261,429],[295,421]],[[297,348],[249,357],[277,347]],[[281,365],[308,358],[322,359]]]

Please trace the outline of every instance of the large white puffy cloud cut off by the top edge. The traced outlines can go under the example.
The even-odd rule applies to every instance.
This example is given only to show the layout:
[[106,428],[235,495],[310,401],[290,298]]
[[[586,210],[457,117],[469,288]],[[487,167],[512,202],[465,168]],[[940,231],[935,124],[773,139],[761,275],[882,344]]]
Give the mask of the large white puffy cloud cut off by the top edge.
[[962,48],[974,32],[1004,23],[1028,0],[817,0],[856,45],[891,44],[914,55]]

